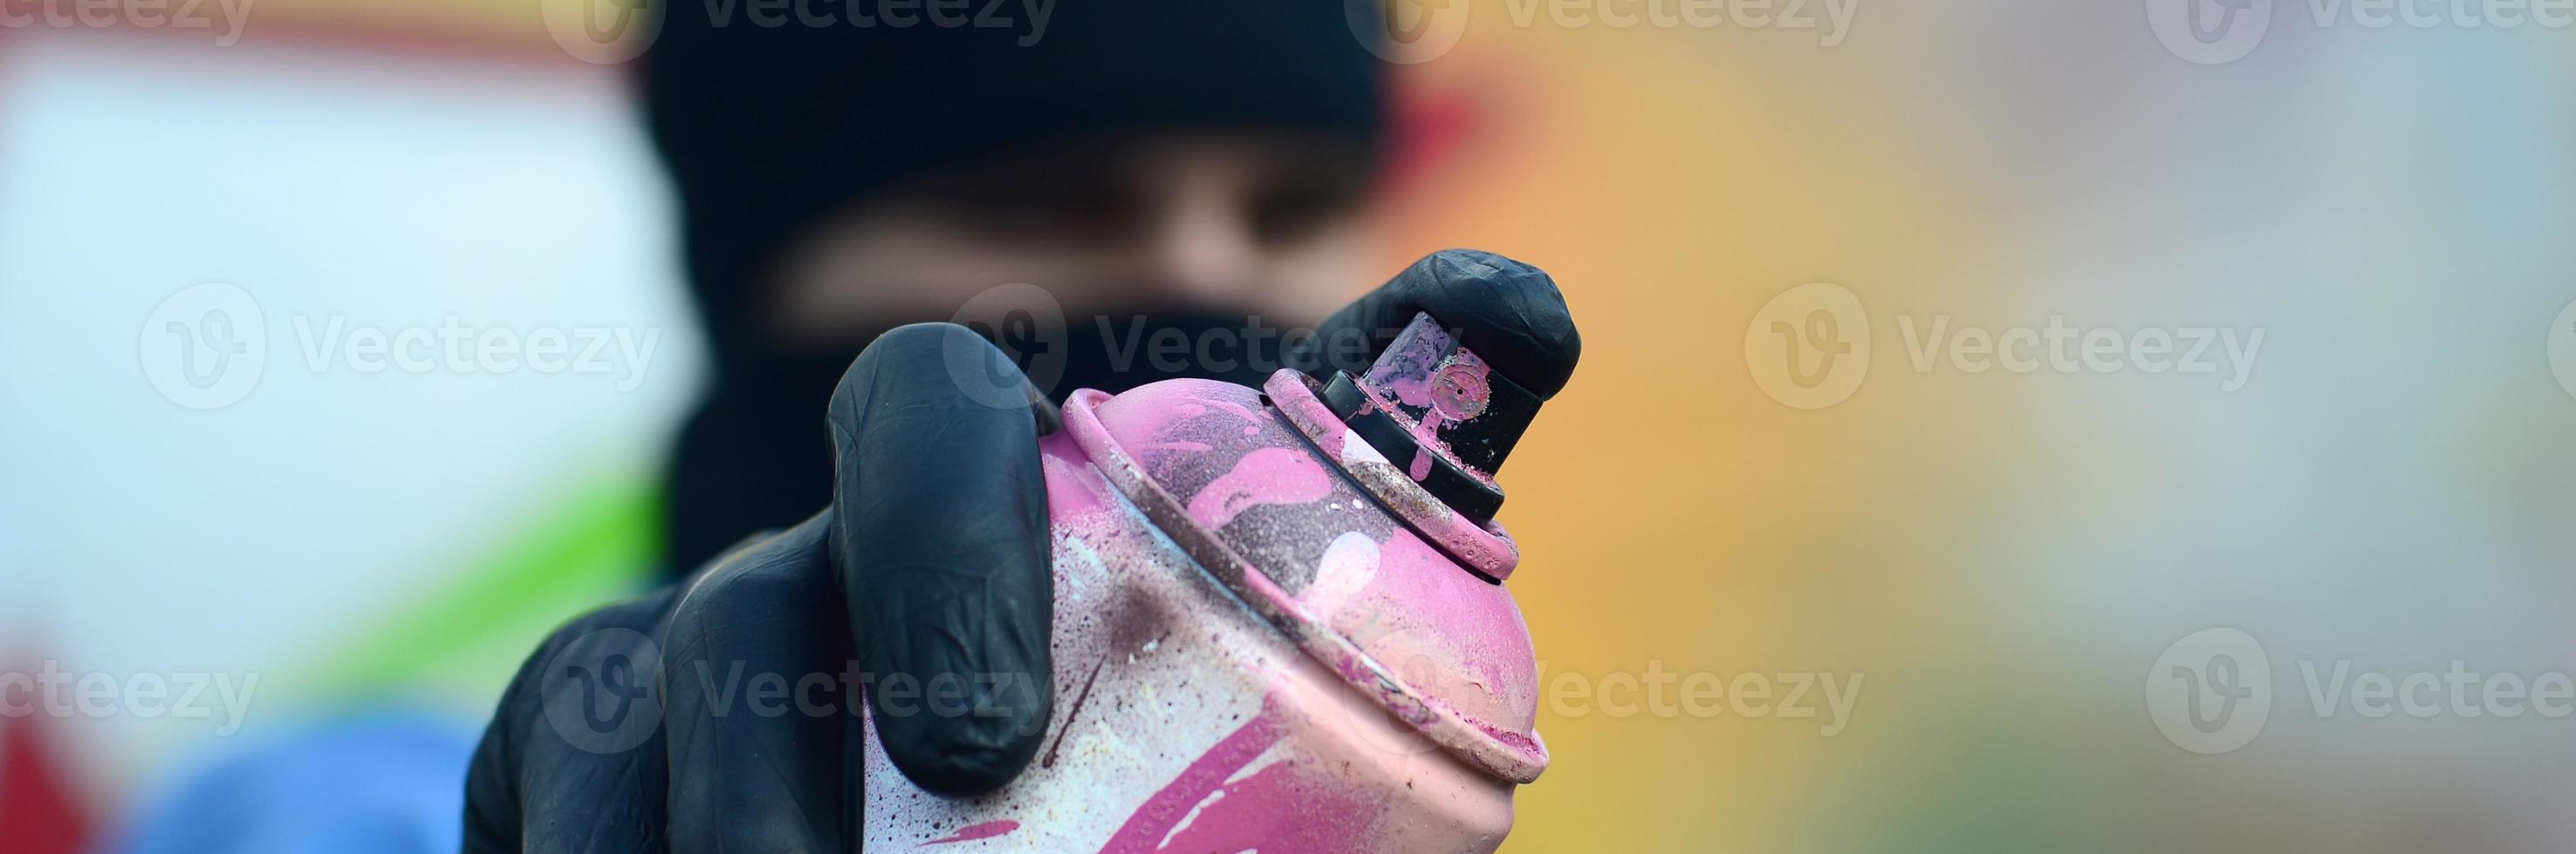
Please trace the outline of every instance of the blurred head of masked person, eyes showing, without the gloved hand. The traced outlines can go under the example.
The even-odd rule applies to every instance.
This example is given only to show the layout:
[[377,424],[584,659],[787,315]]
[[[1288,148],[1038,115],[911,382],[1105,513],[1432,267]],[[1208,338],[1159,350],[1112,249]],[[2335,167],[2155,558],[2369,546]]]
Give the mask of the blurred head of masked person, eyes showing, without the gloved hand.
[[670,566],[829,499],[814,401],[884,329],[1033,283],[1064,322],[1020,345],[1069,352],[1015,355],[1064,365],[1048,394],[1121,391],[1146,378],[1110,365],[1128,332],[1311,324],[1365,273],[1383,64],[1337,3],[1061,5],[1036,41],[677,18],[644,95],[719,381],[680,437]]

